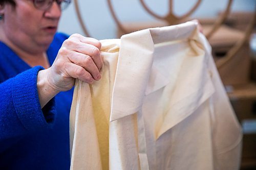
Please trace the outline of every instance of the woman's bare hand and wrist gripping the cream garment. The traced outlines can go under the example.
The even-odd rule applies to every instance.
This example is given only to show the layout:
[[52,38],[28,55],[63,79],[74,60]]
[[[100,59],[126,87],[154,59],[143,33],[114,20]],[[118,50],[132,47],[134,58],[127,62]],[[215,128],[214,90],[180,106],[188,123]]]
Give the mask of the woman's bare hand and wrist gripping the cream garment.
[[38,72],[37,90],[41,107],[58,92],[71,89],[76,78],[87,83],[101,78],[100,47],[98,40],[79,34],[73,34],[63,42],[53,65]]

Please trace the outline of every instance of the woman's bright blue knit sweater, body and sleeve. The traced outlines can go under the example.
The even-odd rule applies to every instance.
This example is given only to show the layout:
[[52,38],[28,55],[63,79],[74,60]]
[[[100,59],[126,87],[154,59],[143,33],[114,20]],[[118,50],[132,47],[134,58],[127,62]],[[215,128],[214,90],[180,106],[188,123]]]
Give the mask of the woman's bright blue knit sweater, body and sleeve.
[[[65,34],[57,33],[47,55],[53,63]],[[31,68],[0,42],[0,169],[69,169],[69,112],[73,89],[41,109]]]

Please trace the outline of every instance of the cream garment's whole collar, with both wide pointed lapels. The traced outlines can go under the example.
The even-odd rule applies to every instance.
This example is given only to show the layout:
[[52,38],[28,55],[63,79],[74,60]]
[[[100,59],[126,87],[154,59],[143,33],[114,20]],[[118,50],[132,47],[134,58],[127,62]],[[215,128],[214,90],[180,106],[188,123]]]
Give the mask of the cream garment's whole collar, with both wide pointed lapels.
[[[110,122],[136,113],[141,109],[145,95],[170,83],[172,72],[166,73],[161,67],[153,64],[155,45],[162,42],[187,39],[198,53],[198,58],[194,60],[193,65],[189,61],[183,63],[179,74],[186,75],[187,79],[178,78],[174,82],[176,83],[175,99],[170,103],[170,109],[174,114],[166,115],[158,137],[208,99],[214,92],[214,87],[207,70],[205,49],[198,34],[196,23],[186,22],[177,26],[146,29],[122,36]],[[193,67],[200,68],[195,72],[192,71]],[[190,76],[193,76],[194,84],[189,82]]]

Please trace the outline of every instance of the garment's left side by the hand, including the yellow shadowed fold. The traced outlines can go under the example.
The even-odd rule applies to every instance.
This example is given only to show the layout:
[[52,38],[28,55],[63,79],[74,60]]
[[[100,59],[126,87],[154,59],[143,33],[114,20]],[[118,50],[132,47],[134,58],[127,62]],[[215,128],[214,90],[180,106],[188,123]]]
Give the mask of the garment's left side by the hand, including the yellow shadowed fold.
[[71,169],[109,167],[110,99],[116,74],[119,40],[101,43],[101,56],[104,56],[101,79],[93,85],[76,80],[70,113]]

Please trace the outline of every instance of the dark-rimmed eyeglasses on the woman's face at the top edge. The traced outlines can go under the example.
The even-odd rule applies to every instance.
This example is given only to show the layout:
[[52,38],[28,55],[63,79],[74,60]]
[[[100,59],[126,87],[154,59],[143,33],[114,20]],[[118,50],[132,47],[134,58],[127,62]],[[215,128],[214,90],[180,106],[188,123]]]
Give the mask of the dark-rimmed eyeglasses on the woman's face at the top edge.
[[56,1],[61,10],[65,10],[71,3],[71,0],[33,0],[33,4],[37,9],[48,10],[52,7],[54,1]]

